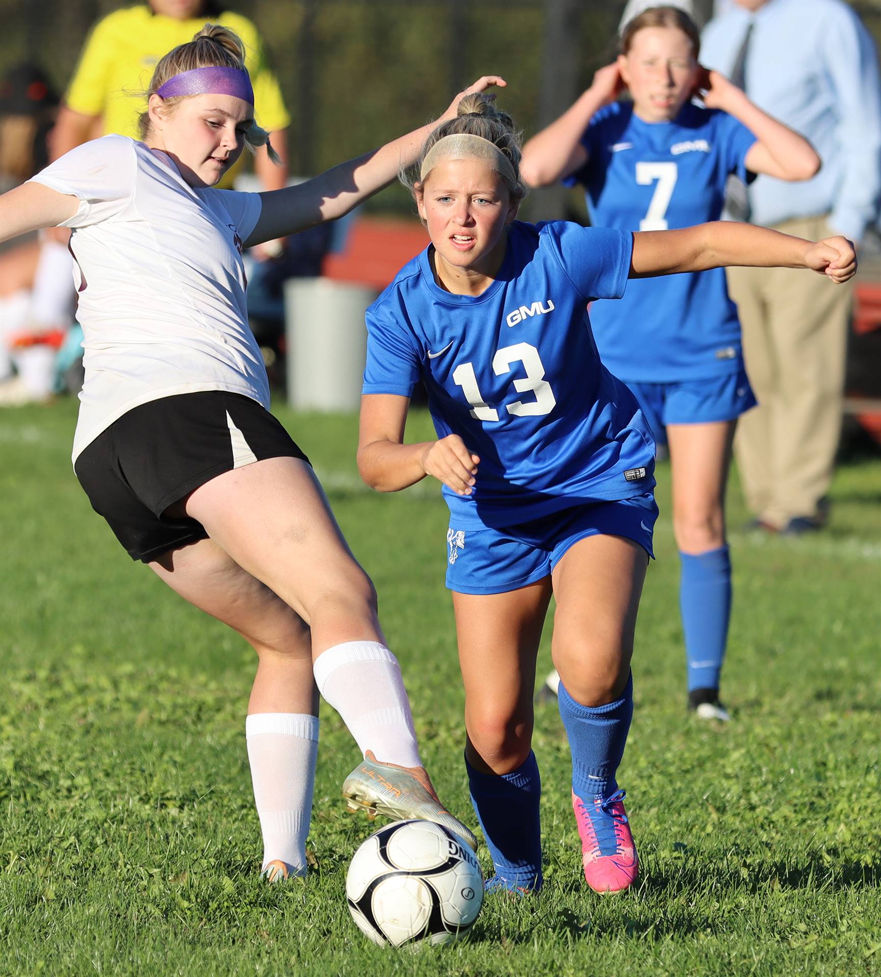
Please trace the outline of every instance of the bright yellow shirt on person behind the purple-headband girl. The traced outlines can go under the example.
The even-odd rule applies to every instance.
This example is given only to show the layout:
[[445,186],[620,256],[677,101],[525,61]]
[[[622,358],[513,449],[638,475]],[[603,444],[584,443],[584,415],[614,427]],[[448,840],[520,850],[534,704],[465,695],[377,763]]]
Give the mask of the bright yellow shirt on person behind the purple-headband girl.
[[150,87],[156,62],[172,48],[192,41],[204,23],[221,23],[241,38],[245,67],[254,88],[257,123],[269,132],[290,123],[282,92],[263,56],[257,28],[241,14],[175,21],[148,6],[114,11],[92,28],[80,55],[66,104],[83,115],[101,115],[104,132],[140,139],[138,116],[146,108],[137,97]]

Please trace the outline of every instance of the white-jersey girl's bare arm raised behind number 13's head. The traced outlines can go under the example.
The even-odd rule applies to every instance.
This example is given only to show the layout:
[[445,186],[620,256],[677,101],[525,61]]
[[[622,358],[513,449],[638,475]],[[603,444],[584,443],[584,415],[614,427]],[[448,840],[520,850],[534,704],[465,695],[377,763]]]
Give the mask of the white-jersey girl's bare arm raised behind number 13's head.
[[463,96],[484,92],[492,85],[504,88],[507,82],[499,75],[484,75],[460,92],[444,114],[434,122],[429,122],[357,159],[340,163],[306,183],[261,193],[263,209],[260,219],[245,245],[251,247],[274,237],[296,234],[347,214],[376,191],[387,187],[402,167],[410,166],[414,162],[431,131],[440,122],[456,117],[456,109]]

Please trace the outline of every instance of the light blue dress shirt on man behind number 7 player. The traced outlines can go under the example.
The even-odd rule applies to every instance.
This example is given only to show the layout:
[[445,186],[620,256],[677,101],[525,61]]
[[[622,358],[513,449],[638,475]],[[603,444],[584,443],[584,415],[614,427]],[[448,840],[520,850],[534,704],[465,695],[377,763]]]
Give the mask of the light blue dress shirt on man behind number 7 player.
[[760,176],[749,189],[751,220],[829,216],[859,240],[881,198],[881,85],[874,44],[842,0],[768,0],[755,13],[736,4],[704,30],[701,62],[724,74],[753,23],[746,93],[807,137],[822,159],[813,180]]

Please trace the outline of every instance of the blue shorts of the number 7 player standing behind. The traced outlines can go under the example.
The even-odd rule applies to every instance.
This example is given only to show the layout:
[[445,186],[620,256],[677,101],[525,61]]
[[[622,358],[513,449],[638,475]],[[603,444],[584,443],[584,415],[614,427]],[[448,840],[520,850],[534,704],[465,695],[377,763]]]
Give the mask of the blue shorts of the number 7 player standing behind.
[[625,380],[634,392],[655,441],[667,444],[668,424],[707,424],[732,421],[758,402],[746,370],[727,376],[684,380],[682,383],[639,383]]

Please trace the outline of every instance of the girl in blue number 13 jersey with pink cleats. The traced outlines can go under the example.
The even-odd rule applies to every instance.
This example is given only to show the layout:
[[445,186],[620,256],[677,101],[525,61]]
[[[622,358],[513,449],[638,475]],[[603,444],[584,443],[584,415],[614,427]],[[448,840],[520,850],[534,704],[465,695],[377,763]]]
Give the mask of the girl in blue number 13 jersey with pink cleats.
[[[431,245],[368,312],[358,464],[380,491],[426,475],[443,483],[465,765],[496,867],[490,889],[542,883],[532,692],[552,591],[585,876],[618,890],[639,865],[615,776],[657,513],[654,443],[599,360],[587,303],[620,298],[628,278],[729,264],[845,280],[855,256],[843,237],[812,244],[730,223],[645,234],[524,224],[519,156],[511,120],[481,96],[428,138],[412,187]],[[438,437],[405,445],[419,379]]]

